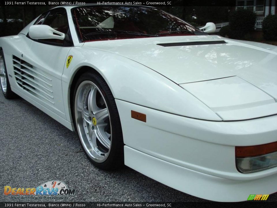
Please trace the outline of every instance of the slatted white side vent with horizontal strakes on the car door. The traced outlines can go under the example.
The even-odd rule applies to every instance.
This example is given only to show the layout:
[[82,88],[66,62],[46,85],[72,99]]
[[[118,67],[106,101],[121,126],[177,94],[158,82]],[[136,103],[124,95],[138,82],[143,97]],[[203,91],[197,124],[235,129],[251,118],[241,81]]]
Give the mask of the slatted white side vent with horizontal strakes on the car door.
[[33,96],[54,104],[52,91],[52,79],[47,77],[41,70],[13,55],[14,77],[17,84]]

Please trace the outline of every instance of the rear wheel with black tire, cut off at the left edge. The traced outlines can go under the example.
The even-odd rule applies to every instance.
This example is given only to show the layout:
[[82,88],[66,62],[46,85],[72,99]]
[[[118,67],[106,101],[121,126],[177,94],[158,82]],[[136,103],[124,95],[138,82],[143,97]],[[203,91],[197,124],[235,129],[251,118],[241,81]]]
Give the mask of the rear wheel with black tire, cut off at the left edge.
[[10,82],[8,79],[8,74],[7,74],[7,69],[6,69],[6,64],[5,64],[5,58],[4,58],[4,53],[1,50],[0,51],[0,84],[1,84],[1,89],[2,92],[7,99],[11,99],[16,97],[16,94],[12,92],[11,87],[10,87]]

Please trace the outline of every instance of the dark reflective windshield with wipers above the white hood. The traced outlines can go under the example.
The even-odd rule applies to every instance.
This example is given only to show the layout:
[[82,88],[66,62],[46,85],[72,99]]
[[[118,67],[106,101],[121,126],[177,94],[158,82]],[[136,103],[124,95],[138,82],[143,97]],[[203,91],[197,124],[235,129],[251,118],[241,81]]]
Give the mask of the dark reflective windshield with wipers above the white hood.
[[72,9],[77,34],[82,42],[194,35],[201,30],[156,8],[132,6],[89,6]]

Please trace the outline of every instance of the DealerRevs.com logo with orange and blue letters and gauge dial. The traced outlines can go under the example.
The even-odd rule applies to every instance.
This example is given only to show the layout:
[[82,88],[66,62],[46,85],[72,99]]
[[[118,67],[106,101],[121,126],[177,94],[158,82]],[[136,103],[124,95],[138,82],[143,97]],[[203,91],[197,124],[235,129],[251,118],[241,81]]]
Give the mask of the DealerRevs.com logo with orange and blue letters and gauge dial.
[[68,196],[75,194],[75,189],[69,189],[65,183],[61,181],[48,181],[42,183],[36,188],[22,188],[22,187],[4,187],[4,194],[10,195],[11,199],[61,199],[67,200]]

